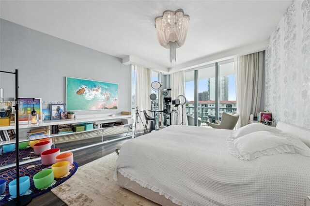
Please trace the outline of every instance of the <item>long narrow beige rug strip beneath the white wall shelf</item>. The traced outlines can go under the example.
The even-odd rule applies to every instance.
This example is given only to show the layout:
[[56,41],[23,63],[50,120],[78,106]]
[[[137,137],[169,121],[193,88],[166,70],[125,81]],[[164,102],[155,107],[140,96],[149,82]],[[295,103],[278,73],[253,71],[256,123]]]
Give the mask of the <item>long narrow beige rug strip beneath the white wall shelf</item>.
[[[121,133],[126,133],[126,132],[131,134],[132,129],[128,128],[128,126],[110,127],[110,128],[104,129],[103,136],[121,134]],[[102,130],[95,130],[92,132],[72,133],[72,134],[68,134],[65,136],[59,136],[55,138],[55,143],[71,142],[75,140],[90,139],[90,138],[101,137],[101,136],[102,136]]]

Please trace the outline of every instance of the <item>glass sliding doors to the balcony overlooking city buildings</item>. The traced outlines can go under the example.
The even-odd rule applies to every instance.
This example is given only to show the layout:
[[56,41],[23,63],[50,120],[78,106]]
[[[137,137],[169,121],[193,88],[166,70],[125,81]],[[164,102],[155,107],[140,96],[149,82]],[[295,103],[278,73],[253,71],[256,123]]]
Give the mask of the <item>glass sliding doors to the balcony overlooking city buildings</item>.
[[220,120],[223,112],[236,111],[233,59],[186,72],[185,76],[189,125],[206,126],[206,122]]

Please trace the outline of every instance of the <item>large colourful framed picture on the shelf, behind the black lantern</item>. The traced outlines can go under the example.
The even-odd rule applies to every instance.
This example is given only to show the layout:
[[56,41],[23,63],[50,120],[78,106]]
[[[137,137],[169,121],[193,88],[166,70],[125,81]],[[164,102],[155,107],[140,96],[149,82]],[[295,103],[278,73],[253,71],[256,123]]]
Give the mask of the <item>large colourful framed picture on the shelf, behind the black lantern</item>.
[[[39,115],[39,121],[42,121],[42,98],[34,98],[34,110]],[[28,115],[31,114],[33,110],[33,99],[31,97],[23,97],[18,99],[19,111],[18,111],[18,121],[27,122]]]

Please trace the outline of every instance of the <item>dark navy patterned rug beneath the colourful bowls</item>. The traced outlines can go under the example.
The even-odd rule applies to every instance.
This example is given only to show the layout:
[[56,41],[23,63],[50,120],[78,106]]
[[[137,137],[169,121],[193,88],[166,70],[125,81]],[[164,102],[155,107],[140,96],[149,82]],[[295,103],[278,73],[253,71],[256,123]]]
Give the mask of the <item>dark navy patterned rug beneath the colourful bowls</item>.
[[[34,165],[34,167],[27,168],[31,165]],[[48,167],[49,167],[48,165],[42,165],[41,160],[20,165],[19,167],[20,176],[19,177],[24,177],[24,176],[30,177],[30,188],[24,194],[30,194],[32,198],[37,197],[41,194],[44,194],[47,191],[50,191],[52,188],[57,187],[58,185],[62,184],[64,181],[66,181],[70,177],[72,177],[78,170],[77,162],[73,162],[73,164],[70,166],[70,170],[67,175],[61,178],[55,178],[54,181],[47,188],[40,189],[40,190],[36,189],[33,184],[33,176],[37,174],[38,172],[40,172],[42,169],[48,168]],[[7,201],[11,200],[12,198],[15,198],[15,196],[11,196],[9,193],[9,183],[12,180],[16,179],[16,168],[7,169],[1,172],[0,179],[5,179],[7,181],[5,192],[2,195],[0,195],[0,206],[2,206],[2,205],[5,205]]]

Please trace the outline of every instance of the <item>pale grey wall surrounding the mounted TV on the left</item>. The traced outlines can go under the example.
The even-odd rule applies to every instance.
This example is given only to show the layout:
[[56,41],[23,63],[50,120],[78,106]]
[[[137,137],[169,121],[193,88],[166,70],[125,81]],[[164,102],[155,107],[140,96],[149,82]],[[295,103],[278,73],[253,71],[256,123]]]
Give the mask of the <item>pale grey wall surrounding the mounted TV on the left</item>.
[[[106,40],[109,41],[109,40]],[[122,59],[0,20],[0,70],[19,70],[19,96],[65,102],[65,76],[118,83],[117,114],[131,110],[131,66]],[[14,75],[0,74],[5,100],[15,96]],[[43,105],[43,108],[49,108]],[[92,114],[98,111],[79,112]]]

